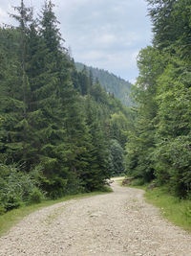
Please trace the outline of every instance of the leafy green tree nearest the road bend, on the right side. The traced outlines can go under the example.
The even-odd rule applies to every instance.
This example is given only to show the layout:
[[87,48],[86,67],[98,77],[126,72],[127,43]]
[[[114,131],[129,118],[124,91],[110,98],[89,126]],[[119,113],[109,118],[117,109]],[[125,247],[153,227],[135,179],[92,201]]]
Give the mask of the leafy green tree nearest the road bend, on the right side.
[[159,50],[147,47],[138,56],[139,77],[134,88],[138,103],[134,128],[128,133],[126,165],[128,173],[151,181],[155,177],[155,133],[158,123],[157,80],[165,66]]

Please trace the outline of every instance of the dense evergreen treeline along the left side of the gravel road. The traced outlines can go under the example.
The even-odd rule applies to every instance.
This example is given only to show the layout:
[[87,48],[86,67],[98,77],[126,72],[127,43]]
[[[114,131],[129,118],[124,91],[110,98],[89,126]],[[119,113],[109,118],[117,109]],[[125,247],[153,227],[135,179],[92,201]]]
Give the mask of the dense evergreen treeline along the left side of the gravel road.
[[63,47],[53,3],[0,29],[0,212],[103,190],[124,172],[129,112]]

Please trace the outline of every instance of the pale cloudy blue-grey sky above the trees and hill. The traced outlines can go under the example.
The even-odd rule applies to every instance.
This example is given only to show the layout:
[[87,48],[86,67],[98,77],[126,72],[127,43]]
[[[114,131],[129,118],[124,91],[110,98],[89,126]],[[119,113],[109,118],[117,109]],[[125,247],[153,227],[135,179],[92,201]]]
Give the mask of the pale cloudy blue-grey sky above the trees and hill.
[[[39,12],[43,0],[24,0]],[[53,0],[65,47],[75,61],[108,70],[127,81],[138,77],[137,56],[151,45],[152,28],[145,0]],[[0,23],[20,0],[0,0]]]

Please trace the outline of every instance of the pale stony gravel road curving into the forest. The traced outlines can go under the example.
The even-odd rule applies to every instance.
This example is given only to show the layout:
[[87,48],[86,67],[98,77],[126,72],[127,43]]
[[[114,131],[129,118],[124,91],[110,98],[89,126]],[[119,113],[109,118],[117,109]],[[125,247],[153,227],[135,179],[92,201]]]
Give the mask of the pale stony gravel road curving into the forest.
[[112,186],[33,213],[0,239],[0,255],[191,256],[191,235],[162,220],[141,190]]

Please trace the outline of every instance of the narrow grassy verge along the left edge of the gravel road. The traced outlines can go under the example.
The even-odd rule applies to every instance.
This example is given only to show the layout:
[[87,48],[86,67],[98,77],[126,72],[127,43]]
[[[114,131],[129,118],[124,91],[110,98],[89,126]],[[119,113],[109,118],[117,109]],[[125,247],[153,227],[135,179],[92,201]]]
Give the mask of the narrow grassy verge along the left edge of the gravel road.
[[32,204],[30,206],[23,206],[18,209],[13,209],[10,212],[0,216],[0,237],[11,228],[14,224],[21,221],[24,217],[28,216],[32,212],[39,210],[40,208],[51,206],[54,203],[76,199],[76,198],[85,198],[85,197],[92,197],[96,195],[102,195],[105,193],[111,192],[110,189],[106,190],[106,192],[92,192],[86,194],[78,194],[74,196],[67,196],[64,198],[59,198],[57,200],[45,200],[38,204]]

